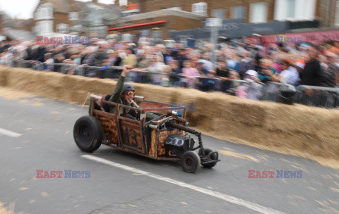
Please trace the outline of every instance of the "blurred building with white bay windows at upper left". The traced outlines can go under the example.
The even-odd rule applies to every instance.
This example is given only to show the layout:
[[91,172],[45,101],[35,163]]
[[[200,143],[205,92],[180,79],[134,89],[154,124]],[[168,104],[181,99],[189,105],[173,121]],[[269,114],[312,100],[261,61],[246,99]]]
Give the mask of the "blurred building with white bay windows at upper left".
[[52,37],[95,32],[107,35],[107,21],[119,18],[121,9],[114,5],[75,0],[40,0],[35,8],[32,31]]

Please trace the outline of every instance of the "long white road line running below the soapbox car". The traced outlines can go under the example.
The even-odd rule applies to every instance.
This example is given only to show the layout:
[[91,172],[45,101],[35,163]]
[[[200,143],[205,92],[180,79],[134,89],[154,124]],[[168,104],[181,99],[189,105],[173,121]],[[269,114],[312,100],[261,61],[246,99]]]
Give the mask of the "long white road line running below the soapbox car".
[[222,199],[224,201],[228,201],[230,203],[235,203],[239,206],[244,206],[246,208],[249,208],[251,210],[255,210],[259,213],[265,213],[265,214],[286,214],[286,213],[283,213],[283,212],[280,212],[278,210],[273,210],[272,208],[267,208],[265,206],[261,206],[261,205],[258,205],[256,203],[252,203],[250,201],[245,201],[245,200],[242,200],[242,199],[238,199],[237,197],[234,197],[234,196],[230,196],[230,195],[227,195],[227,194],[222,194],[218,191],[213,191],[213,190],[210,190],[210,189],[205,189],[205,188],[202,188],[202,187],[197,187],[197,186],[194,186],[194,185],[191,185],[191,184],[186,184],[184,182],[179,182],[177,180],[173,180],[169,177],[163,177],[161,175],[156,175],[154,173],[151,173],[151,172],[146,172],[146,171],[143,171],[143,170],[139,170],[137,168],[132,168],[132,167],[129,167],[128,165],[122,165],[120,163],[115,163],[113,161],[110,161],[110,160],[106,160],[104,158],[98,158],[98,157],[95,157],[95,156],[90,156],[90,155],[83,155],[81,156],[82,158],[86,158],[86,159],[89,159],[89,160],[95,160],[99,163],[105,163],[106,165],[111,165],[111,166],[114,166],[116,168],[120,168],[120,169],[123,169],[123,170],[127,170],[127,171],[130,171],[130,172],[134,172],[134,173],[138,173],[138,174],[141,174],[141,175],[146,175],[148,177],[153,177],[157,180],[162,180],[164,182],[169,182],[171,184],[175,184],[175,185],[178,185],[180,187],[186,187],[188,189],[192,189],[192,190],[195,190],[195,191],[199,191],[203,194],[207,194],[209,196],[213,196],[215,198],[218,198],[218,199]]

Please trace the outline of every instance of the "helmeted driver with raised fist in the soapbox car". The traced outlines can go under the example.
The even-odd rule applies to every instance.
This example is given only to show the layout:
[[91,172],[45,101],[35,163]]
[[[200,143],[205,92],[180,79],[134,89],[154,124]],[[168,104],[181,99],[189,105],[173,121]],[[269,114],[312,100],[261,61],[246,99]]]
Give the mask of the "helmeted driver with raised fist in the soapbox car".
[[[131,72],[132,70],[131,65],[124,65],[122,68],[122,73],[119,77],[118,83],[114,89],[114,92],[111,97],[109,97],[108,101],[124,104],[126,106],[132,106],[132,100],[134,98],[134,95],[136,94],[136,90],[134,89],[133,85],[130,83],[124,83],[126,74]],[[136,118],[133,117],[133,111],[129,108],[125,108],[127,113],[127,118],[133,118],[135,120]],[[115,106],[109,106],[110,113],[115,113]],[[119,109],[119,115],[122,115],[124,113],[124,108]],[[146,112],[146,121],[153,120],[154,118],[157,118],[158,115],[155,113]]]

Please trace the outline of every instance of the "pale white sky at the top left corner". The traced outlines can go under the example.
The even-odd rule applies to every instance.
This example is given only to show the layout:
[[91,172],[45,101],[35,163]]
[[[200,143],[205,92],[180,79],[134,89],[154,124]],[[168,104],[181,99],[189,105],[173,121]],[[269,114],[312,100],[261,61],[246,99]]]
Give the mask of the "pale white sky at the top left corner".
[[[4,11],[12,18],[33,18],[33,11],[40,0],[0,0],[0,11]],[[91,1],[91,0],[78,0]],[[114,0],[98,0],[103,4],[112,4]],[[119,2],[119,1],[118,1]]]

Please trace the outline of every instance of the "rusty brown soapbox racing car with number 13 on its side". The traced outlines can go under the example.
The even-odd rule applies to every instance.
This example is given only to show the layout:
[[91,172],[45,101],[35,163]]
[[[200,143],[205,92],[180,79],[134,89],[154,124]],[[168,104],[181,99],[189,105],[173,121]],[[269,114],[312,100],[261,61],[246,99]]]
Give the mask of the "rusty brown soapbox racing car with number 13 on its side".
[[[79,118],[73,129],[81,150],[93,152],[106,144],[148,158],[178,160],[186,172],[195,172],[200,163],[204,168],[213,168],[220,161],[217,151],[203,147],[201,132],[188,127],[185,106],[169,106],[135,96],[137,108],[109,102],[109,96],[90,94],[89,115]],[[109,106],[115,106],[114,113],[109,112]],[[135,117],[127,114],[127,109]],[[146,112],[158,117],[146,121]],[[197,146],[194,147],[189,133],[198,138]],[[196,149],[198,153],[194,152]]]

